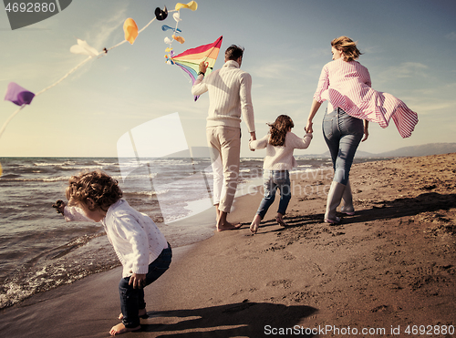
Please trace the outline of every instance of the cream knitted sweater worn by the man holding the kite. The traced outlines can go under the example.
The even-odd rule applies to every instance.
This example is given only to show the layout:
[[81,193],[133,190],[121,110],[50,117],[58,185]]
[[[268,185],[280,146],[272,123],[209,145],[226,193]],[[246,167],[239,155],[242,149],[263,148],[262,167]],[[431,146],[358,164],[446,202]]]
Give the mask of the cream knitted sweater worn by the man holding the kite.
[[197,77],[192,94],[199,96],[209,91],[207,127],[228,126],[241,128],[241,115],[249,132],[254,132],[254,106],[252,104],[252,77],[236,61],[225,62],[221,69],[208,77]]

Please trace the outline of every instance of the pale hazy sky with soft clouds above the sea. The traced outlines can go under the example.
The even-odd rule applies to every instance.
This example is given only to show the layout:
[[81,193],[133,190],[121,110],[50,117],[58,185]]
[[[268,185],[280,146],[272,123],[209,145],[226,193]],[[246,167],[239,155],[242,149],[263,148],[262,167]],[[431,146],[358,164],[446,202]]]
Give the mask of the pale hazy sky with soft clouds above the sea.
[[[87,56],[69,48],[77,38],[101,51],[124,40],[123,22],[141,28],[155,8],[169,0],[75,0],[64,11],[31,26],[12,30],[0,11],[0,92],[9,82],[38,92],[52,85]],[[266,123],[281,114],[304,136],[321,68],[331,60],[337,36],[358,41],[372,87],[403,100],[420,122],[410,138],[370,124],[359,149],[370,153],[434,142],[456,142],[456,2],[453,0],[200,0],[198,9],[181,9],[183,45],[178,54],[223,36],[215,68],[223,66],[230,45],[244,46],[242,69],[253,78],[252,97],[258,138]],[[179,67],[165,63],[161,25],[175,26],[171,15],[154,21],[133,45],[123,44],[93,58],[56,87],[35,97],[0,138],[0,157],[117,157],[119,139],[155,118],[179,113],[189,147],[206,145],[208,95],[197,102],[192,84]],[[0,125],[16,110],[0,101]],[[327,151],[321,128],[324,104],[314,119],[309,149],[295,155]],[[153,122],[151,122],[153,123]],[[242,122],[242,157],[262,157],[248,149]],[[172,133],[171,133],[172,134]],[[154,147],[171,142],[166,136]]]

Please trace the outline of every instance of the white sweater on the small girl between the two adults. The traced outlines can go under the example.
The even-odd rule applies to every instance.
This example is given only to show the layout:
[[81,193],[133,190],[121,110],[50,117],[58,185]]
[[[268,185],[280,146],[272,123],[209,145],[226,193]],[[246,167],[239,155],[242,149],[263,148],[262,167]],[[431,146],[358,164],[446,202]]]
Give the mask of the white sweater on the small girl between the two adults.
[[296,167],[296,160],[293,157],[294,149],[306,149],[312,140],[312,134],[307,133],[304,138],[288,131],[285,135],[284,146],[273,146],[269,143],[270,134],[249,142],[250,149],[266,149],[263,169],[269,170],[291,170]]

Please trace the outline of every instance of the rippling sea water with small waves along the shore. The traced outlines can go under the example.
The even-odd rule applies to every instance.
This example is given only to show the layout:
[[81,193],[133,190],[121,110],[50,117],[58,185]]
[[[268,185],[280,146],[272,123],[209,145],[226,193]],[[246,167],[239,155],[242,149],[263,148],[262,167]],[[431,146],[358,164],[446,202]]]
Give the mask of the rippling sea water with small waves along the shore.
[[[329,159],[297,162],[297,171],[330,166]],[[178,221],[212,207],[210,159],[119,164],[119,159],[0,158],[0,163],[0,308],[119,266],[100,224],[66,222],[51,207],[66,200],[67,180],[79,171],[101,169],[118,179],[123,198],[148,214],[174,247],[207,239],[214,230],[214,222],[196,229]],[[238,190],[261,184],[262,166],[263,159],[242,159]]]

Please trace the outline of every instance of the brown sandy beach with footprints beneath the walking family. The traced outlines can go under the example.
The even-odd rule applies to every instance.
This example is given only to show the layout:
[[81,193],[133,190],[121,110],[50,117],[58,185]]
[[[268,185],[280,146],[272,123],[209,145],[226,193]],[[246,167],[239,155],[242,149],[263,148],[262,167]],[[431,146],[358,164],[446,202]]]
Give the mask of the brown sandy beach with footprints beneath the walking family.
[[[293,177],[286,228],[276,200],[252,235],[262,191],[238,198],[229,220],[243,228],[175,249],[146,289],[150,317],[122,336],[455,337],[455,173],[456,154],[354,165],[357,212],[337,226],[323,222],[329,170]],[[109,336],[120,271],[2,310],[2,336]]]

